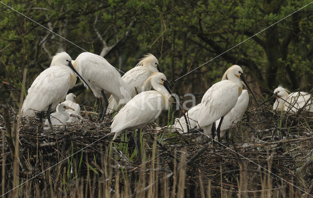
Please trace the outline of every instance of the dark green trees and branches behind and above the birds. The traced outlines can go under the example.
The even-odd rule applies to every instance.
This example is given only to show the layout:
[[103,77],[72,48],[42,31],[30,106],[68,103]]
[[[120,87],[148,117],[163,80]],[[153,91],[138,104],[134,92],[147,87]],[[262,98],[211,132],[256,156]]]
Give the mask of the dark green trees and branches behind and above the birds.
[[[279,83],[311,90],[312,5],[174,82],[310,0],[2,2],[124,72],[143,54],[154,54],[180,96],[201,97],[232,64],[243,67],[258,93]],[[66,51],[76,59],[81,48],[0,4],[0,103],[18,104],[24,68],[28,89],[55,53]],[[89,91],[78,98],[94,101]]]

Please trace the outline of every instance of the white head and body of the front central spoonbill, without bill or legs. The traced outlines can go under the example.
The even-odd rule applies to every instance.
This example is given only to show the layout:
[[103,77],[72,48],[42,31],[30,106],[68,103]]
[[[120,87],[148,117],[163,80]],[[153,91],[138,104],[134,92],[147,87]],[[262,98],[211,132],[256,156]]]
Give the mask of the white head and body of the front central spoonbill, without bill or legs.
[[125,129],[139,129],[153,122],[164,109],[170,97],[169,88],[163,86],[165,75],[155,73],[147,81],[151,82],[155,91],[141,92],[116,114],[111,124],[113,139]]

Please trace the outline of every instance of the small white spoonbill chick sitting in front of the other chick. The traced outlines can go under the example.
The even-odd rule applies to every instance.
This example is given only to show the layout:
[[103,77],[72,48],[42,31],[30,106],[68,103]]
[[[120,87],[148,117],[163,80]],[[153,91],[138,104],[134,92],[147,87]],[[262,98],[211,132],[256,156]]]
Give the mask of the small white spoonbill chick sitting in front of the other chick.
[[[51,116],[51,125],[65,125],[66,121],[69,119],[69,113],[66,110],[75,111],[75,109],[67,106],[64,102],[60,103],[57,106],[56,112],[52,113]],[[49,122],[46,119],[45,124],[48,125]],[[44,127],[44,129],[49,129],[50,127]]]

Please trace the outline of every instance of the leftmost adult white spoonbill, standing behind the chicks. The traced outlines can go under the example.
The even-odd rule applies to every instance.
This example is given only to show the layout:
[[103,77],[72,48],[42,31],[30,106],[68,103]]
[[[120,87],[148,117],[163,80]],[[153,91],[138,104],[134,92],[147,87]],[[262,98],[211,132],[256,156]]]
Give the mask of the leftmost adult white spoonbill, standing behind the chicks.
[[57,53],[50,67],[45,69],[28,89],[22,105],[22,117],[34,117],[36,112],[47,110],[47,119],[51,124],[51,107],[56,107],[75,85],[75,73],[80,76],[74,69],[70,56],[66,52]]

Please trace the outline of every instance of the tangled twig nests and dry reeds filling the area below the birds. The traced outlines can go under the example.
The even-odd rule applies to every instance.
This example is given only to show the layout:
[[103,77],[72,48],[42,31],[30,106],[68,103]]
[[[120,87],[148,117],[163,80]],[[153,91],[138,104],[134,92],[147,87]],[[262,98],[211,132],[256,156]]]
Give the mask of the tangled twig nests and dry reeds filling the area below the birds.
[[[6,197],[313,195],[313,114],[309,112],[295,115],[265,106],[249,110],[230,130],[230,141],[219,146],[200,131],[168,134],[148,126],[141,133],[140,163],[134,132],[123,133],[119,142],[106,136],[111,118],[99,122],[83,115],[88,120],[47,131],[39,119],[22,119],[17,144],[16,111],[7,110],[9,117],[4,111],[0,114],[1,195],[8,192]],[[9,131],[12,145],[5,137]],[[11,156],[17,145],[20,163]],[[19,168],[14,171],[14,167]]]

